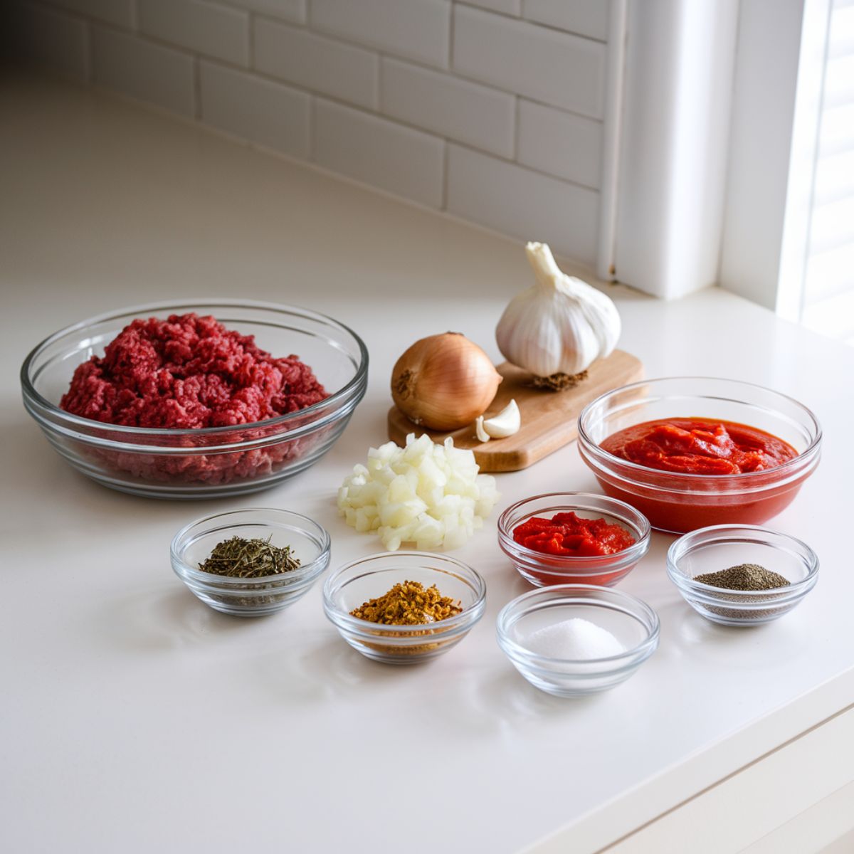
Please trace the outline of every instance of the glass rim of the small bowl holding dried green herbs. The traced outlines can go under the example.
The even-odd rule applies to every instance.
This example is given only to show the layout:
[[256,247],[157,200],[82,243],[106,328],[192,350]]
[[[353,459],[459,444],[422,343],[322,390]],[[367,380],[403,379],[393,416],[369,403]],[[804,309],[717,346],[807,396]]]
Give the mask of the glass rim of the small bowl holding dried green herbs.
[[[207,529],[202,529],[200,532],[200,536],[204,536],[210,534],[212,529],[216,527],[215,525],[209,524],[213,523],[213,521],[216,519],[221,520],[225,517],[237,517],[242,516],[244,514],[259,512],[287,514],[290,518],[294,518],[296,521],[301,523],[302,527],[305,530],[309,530],[309,526],[313,526],[313,533],[317,535],[317,538],[321,543],[319,555],[312,561],[309,561],[309,563],[307,564],[300,564],[295,570],[288,570],[287,572],[278,572],[274,576],[261,576],[260,578],[237,578],[232,576],[218,576],[213,572],[205,572],[204,570],[200,570],[195,566],[190,566],[190,564],[188,564],[181,557],[181,553],[178,549],[178,544],[182,540],[182,538],[187,535],[190,529],[205,524]],[[276,524],[259,524],[263,524],[271,529],[279,527]],[[295,526],[292,525],[291,527]],[[189,524],[185,524],[184,527],[180,529],[176,535],[173,536],[172,542],[169,544],[169,557],[172,560],[172,567],[175,571],[175,574],[184,581],[190,578],[193,581],[202,582],[203,584],[218,587],[221,586],[224,588],[243,585],[244,587],[242,589],[245,589],[245,585],[250,585],[254,587],[256,585],[261,586],[265,584],[270,584],[271,582],[298,582],[313,580],[313,577],[317,575],[318,572],[322,572],[325,569],[326,565],[329,564],[331,547],[332,540],[329,535],[329,532],[323,527],[323,525],[319,524],[318,522],[315,522],[312,518],[304,516],[302,513],[297,513],[292,510],[284,510],[281,507],[241,507],[239,510],[226,510],[224,512],[213,513],[210,516],[202,516],[200,518],[194,519]],[[178,569],[180,569],[180,571],[178,571]],[[290,586],[291,585],[289,585],[289,587]]]

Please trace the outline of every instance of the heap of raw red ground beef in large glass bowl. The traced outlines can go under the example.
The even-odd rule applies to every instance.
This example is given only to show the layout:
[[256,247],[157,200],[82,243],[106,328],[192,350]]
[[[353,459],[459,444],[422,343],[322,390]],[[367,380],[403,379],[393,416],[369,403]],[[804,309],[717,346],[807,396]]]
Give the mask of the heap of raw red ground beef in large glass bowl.
[[[104,424],[196,429],[263,422],[328,396],[296,356],[276,359],[257,347],[253,336],[190,313],[134,320],[102,357],[92,356],[78,366],[60,406]],[[270,435],[262,427],[251,430],[251,436],[249,432],[218,435],[215,442]],[[318,438],[289,442],[286,436],[281,443],[249,451],[186,456],[100,451],[99,456],[138,477],[225,483],[273,471],[277,463],[306,453]],[[173,445],[197,447],[186,439]]]

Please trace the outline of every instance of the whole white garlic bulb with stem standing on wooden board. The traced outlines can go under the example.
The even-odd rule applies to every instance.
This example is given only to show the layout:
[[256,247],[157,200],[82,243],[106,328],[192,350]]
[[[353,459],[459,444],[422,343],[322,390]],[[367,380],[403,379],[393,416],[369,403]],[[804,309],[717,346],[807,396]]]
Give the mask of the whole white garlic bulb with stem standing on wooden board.
[[507,361],[537,377],[576,374],[611,354],[620,315],[610,297],[560,271],[546,243],[525,247],[536,284],[516,295],[495,338]]

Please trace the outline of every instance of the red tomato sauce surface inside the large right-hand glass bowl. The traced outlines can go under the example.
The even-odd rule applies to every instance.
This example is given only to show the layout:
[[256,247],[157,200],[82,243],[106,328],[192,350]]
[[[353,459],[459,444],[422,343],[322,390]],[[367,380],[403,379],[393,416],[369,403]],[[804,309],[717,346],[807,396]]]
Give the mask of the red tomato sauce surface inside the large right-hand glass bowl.
[[646,468],[691,475],[763,471],[798,456],[764,430],[711,418],[646,421],[612,433],[601,447]]

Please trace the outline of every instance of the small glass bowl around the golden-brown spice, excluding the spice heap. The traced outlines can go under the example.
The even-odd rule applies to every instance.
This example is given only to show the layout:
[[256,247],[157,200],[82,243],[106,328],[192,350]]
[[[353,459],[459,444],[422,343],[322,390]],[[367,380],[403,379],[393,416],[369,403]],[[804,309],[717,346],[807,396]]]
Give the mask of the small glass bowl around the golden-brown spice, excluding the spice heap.
[[[436,623],[383,625],[352,617],[350,611],[377,599],[400,582],[433,584],[463,611]],[[385,664],[415,664],[456,646],[483,617],[486,582],[471,566],[430,552],[386,552],[345,564],[326,579],[326,616],[355,650]]]

